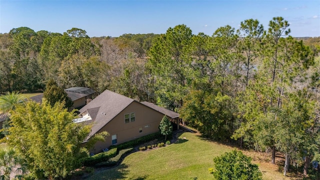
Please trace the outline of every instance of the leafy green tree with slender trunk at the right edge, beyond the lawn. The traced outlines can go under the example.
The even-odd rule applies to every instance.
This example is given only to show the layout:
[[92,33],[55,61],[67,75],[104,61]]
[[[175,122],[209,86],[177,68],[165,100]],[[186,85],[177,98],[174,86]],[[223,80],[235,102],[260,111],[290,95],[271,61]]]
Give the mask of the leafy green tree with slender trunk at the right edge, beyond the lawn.
[[283,107],[276,116],[274,139],[276,146],[284,152],[283,174],[286,175],[290,159],[300,159],[299,151],[303,152],[303,156],[310,158],[318,151],[320,144],[318,137],[312,132],[314,128],[318,128],[317,104],[310,98],[306,89],[289,93],[282,101]]

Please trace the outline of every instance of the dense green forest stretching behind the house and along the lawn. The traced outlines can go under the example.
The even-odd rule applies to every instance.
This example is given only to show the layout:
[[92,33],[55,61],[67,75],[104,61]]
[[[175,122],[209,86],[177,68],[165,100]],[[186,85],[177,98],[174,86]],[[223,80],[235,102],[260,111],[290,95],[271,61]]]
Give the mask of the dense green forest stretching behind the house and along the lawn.
[[185,24],[164,34],[89,37],[29,27],[0,34],[0,92],[62,88],[115,91],[177,111],[203,136],[285,156],[289,165],[320,161],[320,37],[290,36],[273,17],[243,20],[212,34]]

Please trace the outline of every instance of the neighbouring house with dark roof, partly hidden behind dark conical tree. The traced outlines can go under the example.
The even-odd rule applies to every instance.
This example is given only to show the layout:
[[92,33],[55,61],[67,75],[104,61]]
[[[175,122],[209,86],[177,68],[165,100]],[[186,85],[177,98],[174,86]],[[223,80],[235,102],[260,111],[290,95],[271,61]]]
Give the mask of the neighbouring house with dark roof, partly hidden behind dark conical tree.
[[[68,94],[68,96],[71,98],[73,102],[71,109],[84,106],[86,104],[87,97],[95,93],[94,90],[87,87],[70,87],[70,88],[64,89],[64,91]],[[43,93],[32,96],[30,97],[30,99],[33,101],[42,103],[42,97],[43,97]]]

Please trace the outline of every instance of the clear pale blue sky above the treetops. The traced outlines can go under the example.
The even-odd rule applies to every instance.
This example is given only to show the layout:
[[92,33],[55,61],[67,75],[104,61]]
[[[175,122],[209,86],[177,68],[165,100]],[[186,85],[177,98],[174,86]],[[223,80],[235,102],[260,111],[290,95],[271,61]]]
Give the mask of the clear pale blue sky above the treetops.
[[34,31],[65,32],[77,27],[87,35],[165,33],[185,24],[193,34],[241,21],[282,16],[292,36],[320,36],[320,0],[0,0],[0,33],[27,26]]

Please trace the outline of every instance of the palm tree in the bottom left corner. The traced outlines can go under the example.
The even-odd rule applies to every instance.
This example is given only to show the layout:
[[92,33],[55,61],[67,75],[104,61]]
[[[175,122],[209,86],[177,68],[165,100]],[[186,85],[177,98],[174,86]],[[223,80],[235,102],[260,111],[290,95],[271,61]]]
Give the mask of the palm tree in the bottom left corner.
[[26,173],[23,159],[16,155],[14,149],[0,149],[0,180],[22,179]]

